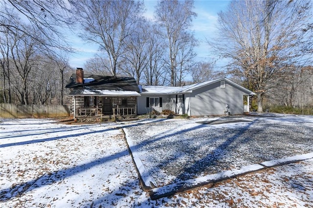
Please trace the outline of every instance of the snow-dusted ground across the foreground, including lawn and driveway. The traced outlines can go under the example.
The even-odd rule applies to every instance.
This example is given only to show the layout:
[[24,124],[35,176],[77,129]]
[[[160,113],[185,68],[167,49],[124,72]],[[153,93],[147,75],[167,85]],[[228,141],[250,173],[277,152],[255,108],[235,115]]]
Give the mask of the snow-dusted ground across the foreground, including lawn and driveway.
[[[254,163],[261,158],[260,155],[265,161],[312,152],[313,117],[245,119],[250,121],[214,127],[196,123],[212,119],[139,120],[102,125],[65,125],[51,119],[0,119],[0,207],[312,207],[313,159],[249,173],[169,198],[151,200],[148,193],[142,191],[121,128],[132,135],[133,147],[138,154],[145,153],[140,155],[140,159],[159,186],[214,173],[211,172],[214,166],[209,169],[199,166],[199,170],[189,173],[179,170],[181,165],[189,166],[186,163],[188,158],[193,159],[195,164],[201,161],[197,145],[203,146],[199,151],[206,151],[207,156],[217,149],[217,164],[222,163],[224,153],[227,163],[234,155],[240,154],[240,157],[233,158],[231,168]],[[264,131],[263,124],[270,124],[263,135],[274,138],[266,140],[268,148],[275,150],[282,146],[282,150],[278,149],[275,154],[251,153],[248,148],[257,144],[257,136],[253,135]],[[248,134],[247,129],[252,125],[255,125],[253,129],[256,131]],[[285,127],[280,129],[281,125]],[[203,130],[211,127],[215,130]],[[136,133],[135,128],[138,129]],[[218,138],[220,134],[217,129],[225,131],[222,134],[224,137],[230,135],[228,139],[212,140],[214,147],[203,143],[203,135]],[[147,135],[151,135],[148,140]],[[197,135],[202,139],[193,142],[191,139],[197,138]],[[243,141],[237,142],[237,138],[248,137],[244,135],[253,138],[251,141],[243,140],[249,145]],[[291,135],[295,136],[279,142],[275,148],[271,147],[278,139],[288,139]],[[196,153],[195,158],[189,156],[190,149],[178,154],[181,150],[176,144],[178,138],[183,140],[180,142],[182,146],[191,146],[190,149]],[[174,150],[162,146],[163,139]],[[287,144],[292,141],[292,145]],[[154,147],[156,151],[149,152],[145,146]],[[166,158],[161,154],[163,149],[168,152]],[[259,146],[256,146],[253,151],[258,149]],[[242,154],[245,151],[248,153]],[[176,164],[170,155],[180,166],[167,172],[172,164]],[[253,156],[251,161],[247,160],[250,156]],[[157,161],[152,161],[153,158]],[[228,167],[222,167],[216,172],[226,169]]]

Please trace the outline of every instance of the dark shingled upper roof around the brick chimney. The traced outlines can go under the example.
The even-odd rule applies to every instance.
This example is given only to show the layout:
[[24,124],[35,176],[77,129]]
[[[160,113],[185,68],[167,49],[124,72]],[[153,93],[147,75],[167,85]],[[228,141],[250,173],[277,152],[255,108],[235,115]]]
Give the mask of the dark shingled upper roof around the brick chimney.
[[67,82],[66,88],[73,89],[97,89],[115,91],[139,92],[139,87],[132,77],[112,77],[92,74],[84,74],[84,83],[76,83],[76,74],[73,73]]

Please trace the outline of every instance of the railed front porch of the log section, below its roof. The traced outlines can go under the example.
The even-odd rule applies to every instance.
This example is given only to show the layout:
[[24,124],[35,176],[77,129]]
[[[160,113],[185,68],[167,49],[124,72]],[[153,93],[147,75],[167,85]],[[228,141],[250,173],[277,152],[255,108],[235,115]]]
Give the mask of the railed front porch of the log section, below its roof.
[[74,119],[115,120],[137,115],[136,97],[74,96]]

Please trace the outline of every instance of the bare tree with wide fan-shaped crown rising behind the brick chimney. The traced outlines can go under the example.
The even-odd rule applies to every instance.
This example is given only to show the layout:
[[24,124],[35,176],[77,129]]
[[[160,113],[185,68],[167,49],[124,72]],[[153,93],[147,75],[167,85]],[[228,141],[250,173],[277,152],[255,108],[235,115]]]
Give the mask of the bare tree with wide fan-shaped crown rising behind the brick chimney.
[[110,61],[107,67],[116,75],[124,44],[135,31],[143,11],[143,3],[134,0],[78,0],[70,1],[85,30],[80,37],[99,45]]

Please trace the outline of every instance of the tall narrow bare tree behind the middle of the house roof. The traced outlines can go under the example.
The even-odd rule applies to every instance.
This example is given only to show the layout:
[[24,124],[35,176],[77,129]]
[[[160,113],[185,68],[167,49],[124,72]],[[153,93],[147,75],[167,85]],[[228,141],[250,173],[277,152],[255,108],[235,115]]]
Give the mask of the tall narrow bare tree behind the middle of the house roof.
[[[172,86],[177,85],[179,64],[180,67],[188,64],[190,56],[185,55],[195,46],[193,44],[195,41],[191,40],[194,36],[189,32],[192,19],[197,16],[192,11],[193,5],[193,0],[162,0],[156,6],[155,17],[160,27],[159,35],[168,42],[167,64],[170,68]],[[192,53],[190,55],[193,56]]]

